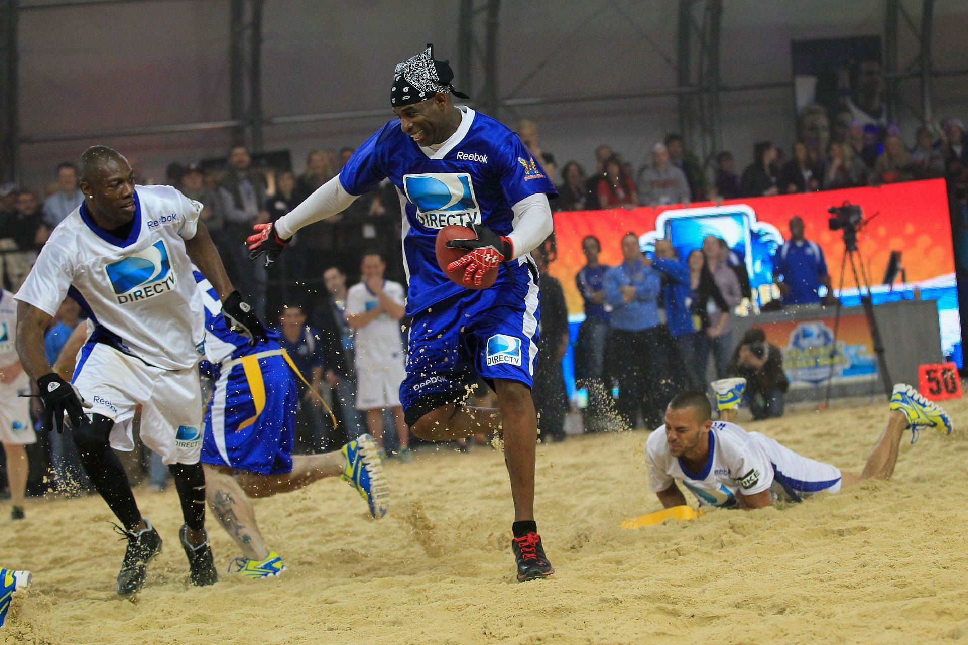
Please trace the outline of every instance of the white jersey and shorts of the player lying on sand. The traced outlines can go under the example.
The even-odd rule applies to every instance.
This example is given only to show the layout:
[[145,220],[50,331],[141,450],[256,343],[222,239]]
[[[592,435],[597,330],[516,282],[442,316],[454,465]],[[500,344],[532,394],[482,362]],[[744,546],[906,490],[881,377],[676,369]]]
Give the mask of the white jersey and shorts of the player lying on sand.
[[716,421],[710,430],[710,457],[693,472],[669,453],[665,425],[646,442],[650,462],[649,487],[662,491],[680,480],[700,506],[742,506],[742,495],[771,490],[771,498],[794,501],[827,490],[840,489],[840,471],[829,463],[808,459],[759,432]]

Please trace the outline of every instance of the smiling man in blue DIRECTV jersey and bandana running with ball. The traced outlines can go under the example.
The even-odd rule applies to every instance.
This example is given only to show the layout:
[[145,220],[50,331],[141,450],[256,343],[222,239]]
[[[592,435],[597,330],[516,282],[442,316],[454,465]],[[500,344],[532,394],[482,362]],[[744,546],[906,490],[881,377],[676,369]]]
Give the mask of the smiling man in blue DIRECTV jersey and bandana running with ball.
[[[398,65],[391,121],[363,143],[340,174],[291,213],[257,226],[250,257],[273,261],[293,233],[345,210],[357,196],[389,179],[406,213],[404,259],[407,315],[412,318],[407,378],[400,399],[410,429],[445,441],[501,432],[515,521],[512,550],[518,579],[554,572],[534,521],[537,419],[531,399],[540,307],[529,252],[552,232],[549,196],[555,187],[518,136],[499,122],[455,105],[453,72],[433,47]],[[450,244],[468,253],[466,285],[447,278],[435,255],[439,230],[471,226],[473,240]],[[499,267],[487,289],[470,290]],[[491,385],[499,409],[464,404],[477,375]]]

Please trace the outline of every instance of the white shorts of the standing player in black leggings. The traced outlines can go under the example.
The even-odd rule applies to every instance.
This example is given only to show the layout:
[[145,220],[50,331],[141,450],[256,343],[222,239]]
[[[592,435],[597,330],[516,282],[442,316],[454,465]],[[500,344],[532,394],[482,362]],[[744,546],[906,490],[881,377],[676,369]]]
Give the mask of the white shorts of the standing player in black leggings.
[[201,451],[201,385],[196,367],[147,366],[101,342],[88,342],[78,355],[72,382],[91,408],[114,420],[111,448],[135,448],[132,420],[141,406],[141,442],[166,464],[198,463]]

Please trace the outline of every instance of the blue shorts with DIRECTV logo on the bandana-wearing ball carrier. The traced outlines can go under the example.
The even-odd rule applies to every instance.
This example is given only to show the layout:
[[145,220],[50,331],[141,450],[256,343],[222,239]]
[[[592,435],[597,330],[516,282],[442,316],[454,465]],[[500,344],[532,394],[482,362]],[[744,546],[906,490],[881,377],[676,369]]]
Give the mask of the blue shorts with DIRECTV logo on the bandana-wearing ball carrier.
[[534,382],[541,304],[529,271],[510,284],[468,290],[417,311],[410,323],[407,378],[400,402],[408,425],[462,402],[482,377]]

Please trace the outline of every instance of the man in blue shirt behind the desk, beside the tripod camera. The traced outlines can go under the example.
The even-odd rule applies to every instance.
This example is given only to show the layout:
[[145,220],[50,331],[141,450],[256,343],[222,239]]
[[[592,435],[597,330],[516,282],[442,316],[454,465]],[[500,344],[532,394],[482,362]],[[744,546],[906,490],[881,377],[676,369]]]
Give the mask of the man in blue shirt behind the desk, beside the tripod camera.
[[824,251],[816,242],[803,237],[800,216],[790,219],[790,241],[773,255],[773,279],[783,295],[784,305],[820,304],[821,285],[827,287],[824,304],[835,302]]

